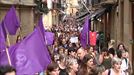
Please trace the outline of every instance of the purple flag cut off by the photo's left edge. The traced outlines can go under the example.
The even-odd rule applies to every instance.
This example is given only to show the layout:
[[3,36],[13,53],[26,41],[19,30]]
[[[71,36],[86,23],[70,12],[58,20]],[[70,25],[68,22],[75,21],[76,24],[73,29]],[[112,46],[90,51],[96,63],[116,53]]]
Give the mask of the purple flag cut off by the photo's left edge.
[[0,24],[0,52],[6,48],[6,31],[3,24]]

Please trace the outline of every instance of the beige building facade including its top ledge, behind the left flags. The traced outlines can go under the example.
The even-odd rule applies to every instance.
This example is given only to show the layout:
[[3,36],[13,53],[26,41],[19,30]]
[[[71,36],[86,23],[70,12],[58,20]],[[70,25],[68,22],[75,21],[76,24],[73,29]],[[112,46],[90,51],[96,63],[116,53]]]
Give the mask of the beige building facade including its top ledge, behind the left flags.
[[[17,16],[20,20],[21,29],[17,31],[17,35],[25,37],[27,34],[33,31],[35,21],[35,3],[34,0],[0,0],[0,22],[10,9],[14,5],[16,8]],[[17,35],[9,35],[10,44],[14,44],[17,39]]]

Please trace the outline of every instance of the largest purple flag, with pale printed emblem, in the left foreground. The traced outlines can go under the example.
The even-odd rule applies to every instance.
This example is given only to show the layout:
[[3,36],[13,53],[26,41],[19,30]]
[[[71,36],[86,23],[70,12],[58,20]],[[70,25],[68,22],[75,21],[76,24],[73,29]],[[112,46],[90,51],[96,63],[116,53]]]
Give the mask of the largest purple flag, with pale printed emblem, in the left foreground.
[[39,29],[20,43],[9,48],[12,65],[17,69],[17,75],[33,75],[42,72],[50,63],[50,56]]

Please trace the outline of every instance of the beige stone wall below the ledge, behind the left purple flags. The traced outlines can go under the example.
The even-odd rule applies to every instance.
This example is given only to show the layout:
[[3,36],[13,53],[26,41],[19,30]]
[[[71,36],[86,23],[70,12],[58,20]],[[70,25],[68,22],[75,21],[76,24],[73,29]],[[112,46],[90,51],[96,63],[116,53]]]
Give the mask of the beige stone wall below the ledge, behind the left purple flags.
[[[10,7],[10,4],[0,4],[0,22],[2,21]],[[18,35],[23,38],[31,33],[33,31],[34,25],[37,23],[37,21],[35,21],[36,16],[34,17],[35,14],[33,6],[15,5],[15,8],[17,16],[21,22],[21,30],[18,29],[16,35],[9,35],[9,41],[11,45],[16,43]]]

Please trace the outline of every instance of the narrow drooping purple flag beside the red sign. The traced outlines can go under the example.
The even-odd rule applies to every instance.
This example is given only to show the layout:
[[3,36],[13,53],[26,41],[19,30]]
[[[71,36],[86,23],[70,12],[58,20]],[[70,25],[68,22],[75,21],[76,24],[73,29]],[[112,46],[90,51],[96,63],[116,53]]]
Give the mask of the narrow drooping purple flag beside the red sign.
[[81,38],[80,42],[83,48],[86,48],[87,45],[89,45],[89,30],[91,26],[91,20],[89,20],[89,17],[85,19],[85,23],[83,25],[83,29],[81,31]]

